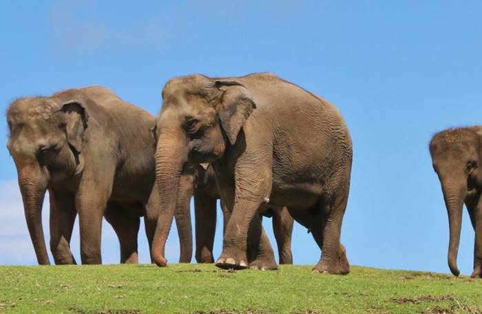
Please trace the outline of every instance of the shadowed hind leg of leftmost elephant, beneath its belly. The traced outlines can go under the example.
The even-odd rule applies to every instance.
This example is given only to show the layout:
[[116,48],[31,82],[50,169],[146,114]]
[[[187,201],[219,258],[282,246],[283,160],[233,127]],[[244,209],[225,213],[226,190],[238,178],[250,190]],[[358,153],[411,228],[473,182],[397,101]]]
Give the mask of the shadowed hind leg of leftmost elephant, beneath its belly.
[[137,264],[137,235],[140,218],[126,215],[120,205],[109,203],[105,211],[105,220],[112,225],[121,245],[121,264]]

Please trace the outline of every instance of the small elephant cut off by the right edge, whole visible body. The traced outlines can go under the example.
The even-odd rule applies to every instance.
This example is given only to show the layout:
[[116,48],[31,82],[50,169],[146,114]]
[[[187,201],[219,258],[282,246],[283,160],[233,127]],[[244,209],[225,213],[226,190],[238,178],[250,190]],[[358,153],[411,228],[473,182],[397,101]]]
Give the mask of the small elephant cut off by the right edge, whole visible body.
[[475,231],[471,277],[482,278],[482,126],[446,129],[435,134],[430,141],[430,156],[448,211],[450,271],[456,276],[460,274],[457,253],[465,203]]

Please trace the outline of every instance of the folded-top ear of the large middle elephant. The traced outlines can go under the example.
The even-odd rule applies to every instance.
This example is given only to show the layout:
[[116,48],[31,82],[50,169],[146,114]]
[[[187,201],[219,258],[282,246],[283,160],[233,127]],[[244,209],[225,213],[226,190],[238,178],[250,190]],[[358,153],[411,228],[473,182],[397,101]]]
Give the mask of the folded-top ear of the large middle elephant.
[[221,92],[216,110],[222,129],[226,132],[231,145],[234,145],[241,127],[256,108],[256,105],[249,94],[249,90],[240,82],[215,81],[214,87]]

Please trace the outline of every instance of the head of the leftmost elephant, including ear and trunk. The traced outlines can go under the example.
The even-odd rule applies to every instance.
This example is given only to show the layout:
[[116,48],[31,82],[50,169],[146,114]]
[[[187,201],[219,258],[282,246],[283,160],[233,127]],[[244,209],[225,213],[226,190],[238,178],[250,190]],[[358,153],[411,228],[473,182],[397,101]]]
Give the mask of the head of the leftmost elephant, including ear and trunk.
[[10,155],[17,166],[25,219],[39,264],[50,264],[41,211],[49,182],[83,169],[87,112],[81,99],[21,98],[7,112]]

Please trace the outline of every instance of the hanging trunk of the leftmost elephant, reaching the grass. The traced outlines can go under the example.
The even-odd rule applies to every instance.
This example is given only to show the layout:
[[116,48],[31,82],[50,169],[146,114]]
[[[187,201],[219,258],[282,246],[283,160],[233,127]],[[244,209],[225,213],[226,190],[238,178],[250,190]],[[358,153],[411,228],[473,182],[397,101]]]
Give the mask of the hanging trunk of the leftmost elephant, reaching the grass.
[[40,265],[50,265],[42,227],[42,205],[48,186],[48,172],[37,163],[19,165],[19,187],[28,232]]

